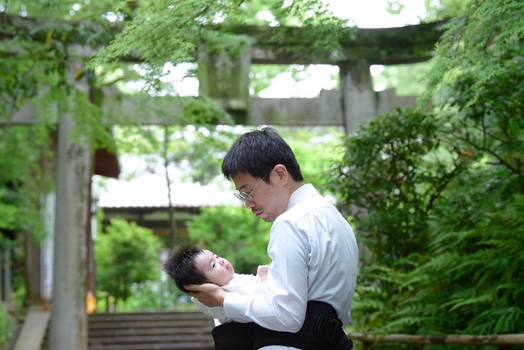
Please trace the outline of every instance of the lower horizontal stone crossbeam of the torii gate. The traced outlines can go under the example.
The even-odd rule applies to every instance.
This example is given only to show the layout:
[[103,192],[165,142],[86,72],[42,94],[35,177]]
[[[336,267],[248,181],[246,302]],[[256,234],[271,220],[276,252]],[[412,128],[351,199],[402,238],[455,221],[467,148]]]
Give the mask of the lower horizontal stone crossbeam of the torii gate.
[[[416,96],[397,96],[395,89],[380,92],[366,92],[372,101],[369,107],[368,118],[378,114],[390,112],[397,107],[414,106]],[[109,101],[103,106],[104,113],[110,116],[108,125],[115,124],[144,124],[144,125],[185,125],[189,119],[183,118],[183,101],[185,97],[149,97],[144,100],[136,96],[126,96],[120,100]],[[235,100],[218,100],[226,111],[234,118],[237,124],[246,125],[344,125],[342,113],[341,92],[338,90],[323,90],[319,97],[312,99],[263,99],[250,97],[248,106]],[[357,113],[356,108],[362,101],[356,99],[347,102],[348,107]],[[243,108],[242,108],[243,107]],[[358,107],[365,108],[365,107]],[[0,120],[2,124],[34,124],[38,122],[37,108],[26,104],[24,108],[13,115],[12,119]],[[366,122],[369,119],[361,118],[355,121]],[[220,121],[217,121],[220,124]]]

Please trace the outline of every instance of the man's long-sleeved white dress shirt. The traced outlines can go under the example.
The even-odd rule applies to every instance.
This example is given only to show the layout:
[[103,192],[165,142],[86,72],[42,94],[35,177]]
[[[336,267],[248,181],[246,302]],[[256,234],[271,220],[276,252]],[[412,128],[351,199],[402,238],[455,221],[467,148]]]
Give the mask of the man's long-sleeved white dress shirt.
[[271,226],[268,255],[268,293],[227,293],[227,319],[298,332],[307,302],[318,300],[332,305],[344,326],[351,321],[358,264],[355,235],[313,185],[291,194],[286,211]]

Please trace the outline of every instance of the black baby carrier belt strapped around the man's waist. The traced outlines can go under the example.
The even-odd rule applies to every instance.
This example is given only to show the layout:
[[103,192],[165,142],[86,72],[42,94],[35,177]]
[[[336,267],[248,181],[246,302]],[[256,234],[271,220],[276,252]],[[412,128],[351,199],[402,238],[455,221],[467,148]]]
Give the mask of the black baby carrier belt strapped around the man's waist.
[[302,350],[351,350],[353,347],[335,309],[321,301],[308,302],[304,323],[297,333],[268,330],[254,322],[230,322],[214,327],[211,334],[215,350],[257,350],[269,345]]

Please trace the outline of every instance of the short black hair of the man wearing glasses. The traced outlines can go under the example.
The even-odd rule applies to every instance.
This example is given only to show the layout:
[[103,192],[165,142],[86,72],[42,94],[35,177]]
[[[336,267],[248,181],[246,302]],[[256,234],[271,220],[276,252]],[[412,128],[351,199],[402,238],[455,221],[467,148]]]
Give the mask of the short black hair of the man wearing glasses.
[[[224,157],[222,173],[228,180],[238,173],[263,178],[277,164],[285,166],[293,180],[304,180],[291,147],[274,128],[265,127],[247,132],[235,141]],[[264,181],[269,183],[269,177]]]

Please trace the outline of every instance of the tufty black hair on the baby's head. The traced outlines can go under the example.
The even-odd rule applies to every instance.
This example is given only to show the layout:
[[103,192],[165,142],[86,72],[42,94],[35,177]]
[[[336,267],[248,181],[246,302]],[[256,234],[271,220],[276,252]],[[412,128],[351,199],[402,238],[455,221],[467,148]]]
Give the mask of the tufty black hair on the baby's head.
[[189,290],[184,286],[209,282],[195,266],[196,257],[202,253],[203,250],[192,242],[181,244],[171,250],[169,258],[162,264],[162,270],[173,279],[178,289],[187,293]]

